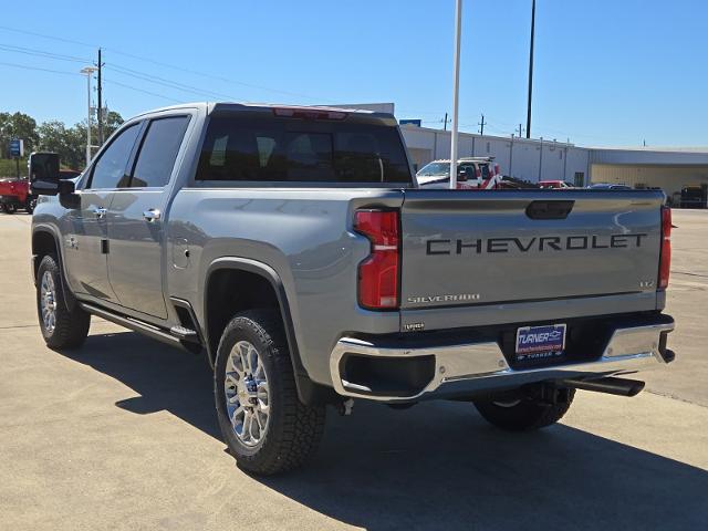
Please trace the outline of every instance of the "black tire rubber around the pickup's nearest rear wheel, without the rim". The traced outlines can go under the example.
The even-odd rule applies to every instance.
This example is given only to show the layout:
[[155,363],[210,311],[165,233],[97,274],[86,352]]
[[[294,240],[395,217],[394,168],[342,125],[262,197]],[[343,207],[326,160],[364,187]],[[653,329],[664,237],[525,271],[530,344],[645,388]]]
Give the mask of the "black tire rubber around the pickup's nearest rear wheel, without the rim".
[[[258,363],[262,363],[268,379],[268,427],[254,446],[239,438],[238,426],[231,423],[227,408],[227,364],[233,363],[229,358],[237,352],[237,343],[243,342],[258,351]],[[217,351],[214,394],[221,434],[242,469],[260,476],[284,472],[303,465],[316,450],[324,430],[325,407],[300,402],[278,312],[251,310],[236,314],[229,322]]]

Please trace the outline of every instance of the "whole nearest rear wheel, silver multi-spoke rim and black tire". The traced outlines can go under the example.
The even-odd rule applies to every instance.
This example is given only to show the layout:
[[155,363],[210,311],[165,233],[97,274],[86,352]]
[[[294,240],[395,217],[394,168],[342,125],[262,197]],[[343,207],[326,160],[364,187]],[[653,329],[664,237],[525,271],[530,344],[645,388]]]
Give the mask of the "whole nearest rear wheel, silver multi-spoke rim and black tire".
[[325,409],[298,397],[278,313],[253,310],[229,322],[217,351],[214,394],[221,434],[244,470],[283,472],[316,450]]

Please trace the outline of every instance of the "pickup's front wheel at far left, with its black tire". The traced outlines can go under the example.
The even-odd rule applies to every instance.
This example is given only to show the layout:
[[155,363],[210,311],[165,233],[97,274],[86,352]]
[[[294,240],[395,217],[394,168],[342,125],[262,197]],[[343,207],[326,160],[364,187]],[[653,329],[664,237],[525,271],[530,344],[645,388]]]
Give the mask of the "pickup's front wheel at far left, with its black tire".
[[[77,304],[66,308],[61,271],[56,259],[48,254],[42,258],[37,272],[37,313],[46,346],[50,348],[76,348],[88,335],[91,314]],[[46,292],[51,291],[51,294]],[[53,319],[45,319],[46,308],[53,306]]]

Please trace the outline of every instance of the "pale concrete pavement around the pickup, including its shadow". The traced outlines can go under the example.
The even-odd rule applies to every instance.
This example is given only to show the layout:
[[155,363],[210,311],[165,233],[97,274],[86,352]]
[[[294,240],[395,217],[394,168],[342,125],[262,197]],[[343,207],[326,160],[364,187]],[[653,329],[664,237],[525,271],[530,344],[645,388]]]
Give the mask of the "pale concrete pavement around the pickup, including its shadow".
[[240,471],[202,360],[94,319],[48,350],[28,216],[0,216],[0,529],[706,529],[708,212],[675,214],[678,360],[627,399],[579,393],[534,434],[461,403],[330,412],[304,470]]

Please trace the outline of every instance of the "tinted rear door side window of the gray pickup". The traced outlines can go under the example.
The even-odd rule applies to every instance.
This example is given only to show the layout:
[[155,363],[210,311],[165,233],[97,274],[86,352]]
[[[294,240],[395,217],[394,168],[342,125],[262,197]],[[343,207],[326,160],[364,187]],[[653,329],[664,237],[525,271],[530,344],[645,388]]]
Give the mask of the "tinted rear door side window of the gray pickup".
[[132,188],[159,187],[169,183],[189,116],[153,119],[145,134],[131,179]]

